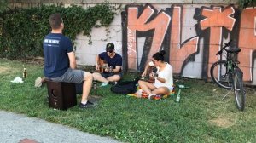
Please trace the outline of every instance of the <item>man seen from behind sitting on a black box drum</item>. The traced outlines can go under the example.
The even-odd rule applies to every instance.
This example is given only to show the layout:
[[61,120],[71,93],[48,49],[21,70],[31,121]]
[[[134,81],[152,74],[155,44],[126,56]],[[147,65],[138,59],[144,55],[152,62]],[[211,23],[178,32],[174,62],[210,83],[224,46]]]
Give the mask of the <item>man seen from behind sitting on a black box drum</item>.
[[92,74],[75,70],[77,64],[73,45],[68,37],[62,35],[64,28],[61,14],[49,16],[51,33],[44,37],[44,77],[55,82],[83,83],[81,108],[94,106],[88,100],[92,84]]

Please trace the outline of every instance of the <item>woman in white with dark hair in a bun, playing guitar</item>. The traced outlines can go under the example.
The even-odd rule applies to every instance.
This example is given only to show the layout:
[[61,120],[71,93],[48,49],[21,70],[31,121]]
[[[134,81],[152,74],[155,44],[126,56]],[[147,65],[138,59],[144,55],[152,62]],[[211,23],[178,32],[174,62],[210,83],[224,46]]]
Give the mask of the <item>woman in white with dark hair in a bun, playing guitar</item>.
[[154,77],[153,73],[149,74],[149,77],[154,77],[154,83],[149,83],[144,80],[138,81],[140,88],[148,94],[148,99],[153,99],[155,95],[159,94],[169,94],[173,89],[172,66],[164,61],[165,54],[166,51],[164,50],[155,53],[152,56],[153,60],[147,64],[142,74],[142,77],[145,77],[147,75],[148,68],[150,66],[155,66],[157,68],[156,74],[158,76]]

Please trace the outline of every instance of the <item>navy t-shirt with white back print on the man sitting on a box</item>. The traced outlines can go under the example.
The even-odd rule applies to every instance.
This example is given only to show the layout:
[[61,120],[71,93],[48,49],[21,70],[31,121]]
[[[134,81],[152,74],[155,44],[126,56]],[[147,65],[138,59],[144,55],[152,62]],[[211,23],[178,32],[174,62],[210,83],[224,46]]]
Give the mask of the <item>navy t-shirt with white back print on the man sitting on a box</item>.
[[67,53],[73,51],[73,45],[68,37],[61,33],[50,33],[44,37],[44,76],[61,77],[69,68]]

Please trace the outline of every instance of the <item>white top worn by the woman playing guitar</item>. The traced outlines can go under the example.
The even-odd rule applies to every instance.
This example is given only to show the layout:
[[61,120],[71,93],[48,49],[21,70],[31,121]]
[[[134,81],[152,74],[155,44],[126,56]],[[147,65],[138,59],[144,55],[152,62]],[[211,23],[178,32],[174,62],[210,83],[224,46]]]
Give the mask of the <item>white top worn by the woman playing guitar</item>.
[[[151,61],[148,63],[149,66],[154,66],[154,63]],[[159,87],[166,87],[168,89],[172,89],[172,85],[173,85],[173,77],[172,77],[172,66],[168,63],[166,63],[166,67],[160,71],[160,67],[157,66],[157,74],[158,77],[160,78],[164,78],[166,80],[166,83],[161,83],[159,80],[157,80],[157,77],[155,77],[155,82],[154,82],[154,86],[156,88]]]

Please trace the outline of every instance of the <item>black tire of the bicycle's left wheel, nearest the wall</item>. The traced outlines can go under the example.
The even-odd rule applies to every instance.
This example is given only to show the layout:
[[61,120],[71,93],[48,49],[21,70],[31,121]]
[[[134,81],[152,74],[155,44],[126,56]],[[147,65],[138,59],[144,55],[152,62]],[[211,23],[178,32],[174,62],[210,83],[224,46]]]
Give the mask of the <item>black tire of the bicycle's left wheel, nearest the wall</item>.
[[219,82],[218,79],[216,79],[214,77],[214,69],[218,68],[218,65],[221,65],[221,64],[225,65],[226,62],[227,62],[226,60],[218,60],[217,62],[213,63],[212,66],[211,66],[210,73],[211,73],[211,77],[212,77],[213,82],[216,83],[219,87],[224,88],[224,89],[232,89],[232,84],[230,84],[230,86],[224,85],[223,83]]

